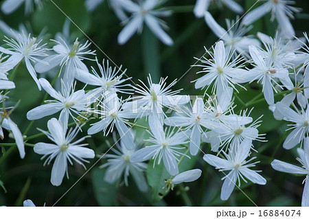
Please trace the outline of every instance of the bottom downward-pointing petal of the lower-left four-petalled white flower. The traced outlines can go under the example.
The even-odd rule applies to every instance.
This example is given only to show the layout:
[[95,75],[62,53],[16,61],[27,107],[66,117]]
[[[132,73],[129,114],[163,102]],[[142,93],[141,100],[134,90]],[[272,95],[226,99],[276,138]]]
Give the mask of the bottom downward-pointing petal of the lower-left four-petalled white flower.
[[67,170],[67,158],[65,154],[60,152],[56,157],[55,163],[52,168],[52,177],[50,179],[52,185],[61,185],[62,179],[65,176],[65,171]]

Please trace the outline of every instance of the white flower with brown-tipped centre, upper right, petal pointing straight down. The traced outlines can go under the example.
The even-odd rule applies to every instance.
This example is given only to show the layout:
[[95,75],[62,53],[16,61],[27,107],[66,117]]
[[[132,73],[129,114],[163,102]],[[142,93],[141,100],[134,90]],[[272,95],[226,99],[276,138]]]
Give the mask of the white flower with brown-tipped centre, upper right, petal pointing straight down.
[[[255,63],[255,67],[250,69],[245,76],[247,82],[252,82],[253,80],[258,80],[262,83],[262,92],[268,105],[274,103],[273,91],[277,92],[273,83],[282,87],[277,83],[279,79],[282,83],[288,84],[290,87],[290,78],[288,76],[288,70],[284,68],[278,68],[273,66],[273,62],[264,60],[262,52],[259,51],[255,46],[249,46],[250,55]],[[290,82],[290,83],[289,83]],[[293,87],[293,84],[292,84]]]

